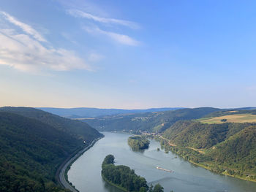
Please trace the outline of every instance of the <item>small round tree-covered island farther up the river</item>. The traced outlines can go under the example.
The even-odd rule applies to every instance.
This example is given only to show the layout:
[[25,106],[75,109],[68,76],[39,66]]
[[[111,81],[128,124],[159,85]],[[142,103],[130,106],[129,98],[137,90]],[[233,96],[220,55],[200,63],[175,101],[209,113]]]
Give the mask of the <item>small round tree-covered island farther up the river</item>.
[[145,150],[148,148],[149,143],[146,137],[133,136],[128,138],[128,145],[132,150]]

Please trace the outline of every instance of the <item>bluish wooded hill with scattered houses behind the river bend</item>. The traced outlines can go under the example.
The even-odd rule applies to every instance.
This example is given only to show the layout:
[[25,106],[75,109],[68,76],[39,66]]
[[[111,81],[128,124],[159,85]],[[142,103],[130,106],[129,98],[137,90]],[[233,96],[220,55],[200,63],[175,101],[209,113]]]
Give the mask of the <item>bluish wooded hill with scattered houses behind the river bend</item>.
[[146,112],[130,115],[112,115],[101,118],[88,118],[83,121],[89,123],[99,131],[139,131],[162,132],[170,128],[178,120],[192,120],[202,118],[219,109],[200,107],[195,109],[181,109],[165,112]]

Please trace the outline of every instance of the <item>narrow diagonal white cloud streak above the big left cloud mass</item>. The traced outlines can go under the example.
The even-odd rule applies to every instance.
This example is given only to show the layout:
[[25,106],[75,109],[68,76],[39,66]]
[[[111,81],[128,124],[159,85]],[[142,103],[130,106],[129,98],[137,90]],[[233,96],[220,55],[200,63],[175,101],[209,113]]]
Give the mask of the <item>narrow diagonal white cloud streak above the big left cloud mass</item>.
[[10,23],[20,27],[27,34],[30,34],[32,37],[34,37],[34,39],[37,39],[40,42],[46,42],[45,38],[43,38],[42,35],[39,34],[39,32],[37,32],[34,28],[31,28],[31,26],[27,25],[26,23],[20,22],[19,20],[9,15],[7,12],[0,12],[0,14],[3,15],[4,18]]

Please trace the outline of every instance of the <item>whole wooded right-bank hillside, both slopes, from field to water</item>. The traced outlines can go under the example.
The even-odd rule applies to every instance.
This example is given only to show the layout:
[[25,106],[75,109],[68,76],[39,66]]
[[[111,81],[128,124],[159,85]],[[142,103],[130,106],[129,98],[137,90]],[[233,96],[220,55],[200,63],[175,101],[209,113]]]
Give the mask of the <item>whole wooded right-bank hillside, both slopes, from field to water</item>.
[[203,124],[185,120],[163,134],[165,150],[211,171],[256,180],[256,124]]

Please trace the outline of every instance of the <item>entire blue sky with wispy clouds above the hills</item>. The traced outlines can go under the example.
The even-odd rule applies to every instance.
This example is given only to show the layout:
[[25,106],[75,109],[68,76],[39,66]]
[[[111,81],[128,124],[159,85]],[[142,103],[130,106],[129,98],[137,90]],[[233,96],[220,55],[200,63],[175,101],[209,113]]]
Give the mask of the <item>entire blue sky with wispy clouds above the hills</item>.
[[0,106],[256,107],[255,9],[1,0]]

